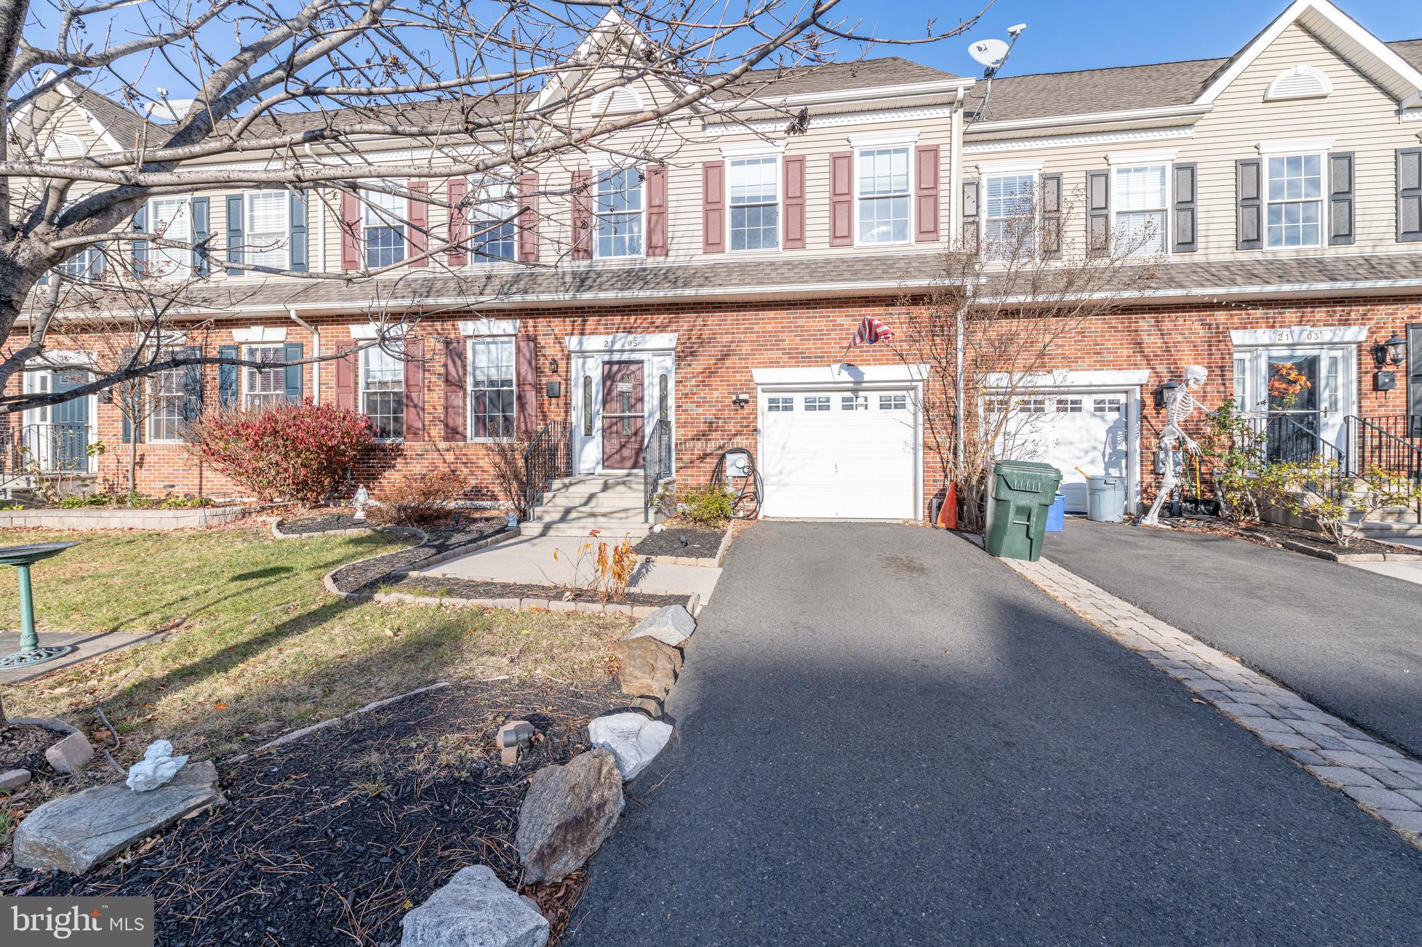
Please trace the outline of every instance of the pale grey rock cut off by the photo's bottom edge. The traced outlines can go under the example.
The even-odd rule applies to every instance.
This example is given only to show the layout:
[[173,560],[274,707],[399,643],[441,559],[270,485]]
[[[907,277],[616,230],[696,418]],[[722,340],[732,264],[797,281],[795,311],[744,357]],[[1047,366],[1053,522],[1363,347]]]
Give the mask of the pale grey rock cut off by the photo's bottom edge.
[[400,921],[401,947],[543,947],[547,919],[488,865],[459,869]]

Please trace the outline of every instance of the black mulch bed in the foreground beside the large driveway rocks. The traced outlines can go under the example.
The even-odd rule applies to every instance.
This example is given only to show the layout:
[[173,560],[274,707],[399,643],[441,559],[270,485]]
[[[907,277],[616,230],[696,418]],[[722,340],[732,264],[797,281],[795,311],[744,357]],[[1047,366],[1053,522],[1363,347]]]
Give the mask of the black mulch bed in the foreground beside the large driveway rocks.
[[[222,767],[226,805],[87,876],[0,869],[0,893],[152,896],[161,947],[371,946],[461,867],[522,882],[513,835],[528,778],[587,750],[586,724],[623,707],[611,684],[456,684]],[[539,730],[515,767],[495,731]],[[137,852],[137,855],[132,855]],[[556,936],[586,875],[525,889]]]

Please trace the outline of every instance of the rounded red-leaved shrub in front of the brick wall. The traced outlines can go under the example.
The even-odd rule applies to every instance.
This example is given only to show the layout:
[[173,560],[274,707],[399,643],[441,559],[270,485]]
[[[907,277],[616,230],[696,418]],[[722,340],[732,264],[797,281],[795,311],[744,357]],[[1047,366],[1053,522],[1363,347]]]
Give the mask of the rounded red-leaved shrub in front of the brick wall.
[[192,426],[191,449],[257,500],[320,505],[374,443],[370,420],[344,407],[290,402],[223,407]]

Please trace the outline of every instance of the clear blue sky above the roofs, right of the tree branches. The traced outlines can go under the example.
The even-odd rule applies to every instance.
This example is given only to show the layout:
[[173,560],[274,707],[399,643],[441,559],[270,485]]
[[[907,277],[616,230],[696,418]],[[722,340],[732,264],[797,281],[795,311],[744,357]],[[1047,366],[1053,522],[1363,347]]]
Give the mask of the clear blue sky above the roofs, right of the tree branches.
[[[1422,38],[1418,0],[1335,0],[1338,7],[1382,40]],[[939,27],[971,16],[964,0],[852,0],[845,4],[877,35],[923,35],[930,17]],[[1204,60],[1233,55],[1287,0],[998,0],[968,38],[1007,38],[1007,27],[1027,23],[1003,75],[1059,72],[1105,65]],[[869,13],[869,11],[873,13]],[[890,10],[892,13],[884,13]],[[968,38],[931,45],[899,47],[897,54],[958,75],[978,75],[967,54]],[[870,55],[893,55],[876,47]]]

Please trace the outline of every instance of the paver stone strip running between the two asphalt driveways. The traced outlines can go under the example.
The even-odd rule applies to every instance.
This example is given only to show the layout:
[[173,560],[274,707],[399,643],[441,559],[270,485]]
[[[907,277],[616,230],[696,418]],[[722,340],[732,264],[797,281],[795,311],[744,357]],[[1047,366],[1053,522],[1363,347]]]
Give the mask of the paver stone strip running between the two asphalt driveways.
[[998,561],[1422,849],[1422,761],[1051,559]]

